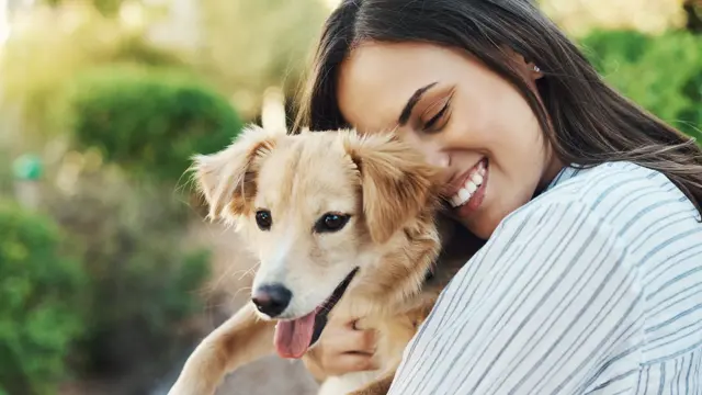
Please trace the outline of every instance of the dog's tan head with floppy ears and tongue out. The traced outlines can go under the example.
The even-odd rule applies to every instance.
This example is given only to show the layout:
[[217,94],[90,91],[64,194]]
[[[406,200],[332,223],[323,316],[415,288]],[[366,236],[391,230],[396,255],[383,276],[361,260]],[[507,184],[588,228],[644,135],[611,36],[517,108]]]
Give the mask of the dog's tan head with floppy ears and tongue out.
[[244,232],[260,260],[252,301],[280,319],[279,353],[298,358],[380,246],[433,203],[438,172],[390,134],[285,135],[250,127],[195,158],[212,218]]

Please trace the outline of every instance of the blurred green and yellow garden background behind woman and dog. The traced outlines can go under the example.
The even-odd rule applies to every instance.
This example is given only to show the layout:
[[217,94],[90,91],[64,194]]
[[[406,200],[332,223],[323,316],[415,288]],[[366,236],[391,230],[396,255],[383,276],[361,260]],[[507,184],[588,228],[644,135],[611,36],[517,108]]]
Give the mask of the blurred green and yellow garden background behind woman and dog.
[[[253,263],[183,176],[290,124],[335,0],[0,0],[0,395],[165,394]],[[625,95],[702,140],[702,1],[542,0]],[[269,357],[220,394],[313,394]]]

